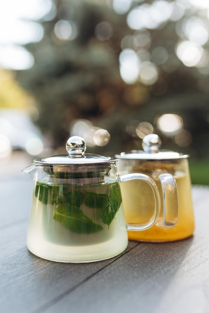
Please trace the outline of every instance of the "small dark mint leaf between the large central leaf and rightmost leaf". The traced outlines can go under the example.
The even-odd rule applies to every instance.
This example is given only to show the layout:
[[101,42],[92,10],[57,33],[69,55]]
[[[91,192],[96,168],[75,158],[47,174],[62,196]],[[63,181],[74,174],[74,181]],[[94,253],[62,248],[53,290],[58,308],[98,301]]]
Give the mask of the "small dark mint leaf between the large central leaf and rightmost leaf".
[[105,193],[85,192],[83,202],[88,207],[105,209],[108,205],[108,195]]

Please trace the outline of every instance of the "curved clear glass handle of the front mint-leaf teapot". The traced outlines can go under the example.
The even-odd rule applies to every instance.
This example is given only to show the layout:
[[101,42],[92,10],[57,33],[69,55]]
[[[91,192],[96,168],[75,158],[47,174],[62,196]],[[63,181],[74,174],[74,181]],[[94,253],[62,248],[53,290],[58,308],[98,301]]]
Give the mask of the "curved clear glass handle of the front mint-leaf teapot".
[[141,173],[131,173],[131,174],[125,174],[125,175],[120,176],[121,182],[133,180],[133,179],[146,181],[150,185],[154,194],[155,205],[153,208],[153,216],[147,223],[127,223],[127,230],[145,230],[145,229],[150,228],[158,219],[159,207],[160,207],[159,191],[157,189],[157,185],[155,181],[148,175],[141,174]]

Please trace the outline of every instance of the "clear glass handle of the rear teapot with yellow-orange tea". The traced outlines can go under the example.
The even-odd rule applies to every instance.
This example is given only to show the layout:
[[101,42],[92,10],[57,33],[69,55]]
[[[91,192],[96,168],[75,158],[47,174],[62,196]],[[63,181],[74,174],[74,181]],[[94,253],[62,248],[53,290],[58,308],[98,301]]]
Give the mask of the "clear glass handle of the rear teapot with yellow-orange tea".
[[178,193],[175,178],[168,173],[159,176],[162,187],[162,217],[157,222],[160,228],[173,227],[178,219]]

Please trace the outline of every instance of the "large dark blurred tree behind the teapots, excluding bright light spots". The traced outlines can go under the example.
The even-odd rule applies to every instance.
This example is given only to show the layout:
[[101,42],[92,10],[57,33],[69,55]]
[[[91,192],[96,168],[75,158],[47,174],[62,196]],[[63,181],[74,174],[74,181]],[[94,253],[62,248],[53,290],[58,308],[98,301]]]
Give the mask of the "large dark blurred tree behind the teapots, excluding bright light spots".
[[[138,9],[139,23],[148,9],[155,8],[153,14],[159,13],[156,5],[167,3],[170,9],[175,5],[173,16],[177,9],[180,14],[183,2],[130,0],[123,13],[113,10],[113,2],[57,0],[54,17],[40,20],[45,29],[43,39],[26,45],[35,63],[30,69],[17,71],[17,79],[35,96],[39,110],[36,122],[42,132],[53,138],[54,147],[59,147],[69,137],[73,121],[87,119],[110,133],[107,146],[91,150],[115,153],[141,148],[136,126],[146,121],[166,147],[179,149],[175,134],[165,135],[156,124],[157,116],[174,113],[183,118],[184,130],[192,136],[187,143],[181,140],[180,149],[194,156],[209,154],[209,71],[199,71],[203,65],[185,65],[188,60],[183,63],[176,52],[178,41],[186,41],[186,34],[182,35],[185,16],[192,17],[197,9],[185,5],[178,17],[158,18],[155,26],[150,19],[147,26],[134,28],[127,19],[131,12],[136,13],[134,9]],[[204,43],[205,51],[207,45]],[[141,76],[134,81],[122,79],[120,56],[125,49],[135,51],[141,62]],[[129,71],[134,72],[134,67]],[[145,133],[146,129],[141,137]]]

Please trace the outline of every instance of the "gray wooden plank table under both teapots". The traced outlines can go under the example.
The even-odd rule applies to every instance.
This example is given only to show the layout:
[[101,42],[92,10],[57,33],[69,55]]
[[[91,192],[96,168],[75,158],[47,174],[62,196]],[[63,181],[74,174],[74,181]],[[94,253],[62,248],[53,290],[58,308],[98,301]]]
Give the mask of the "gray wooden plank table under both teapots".
[[26,246],[33,181],[0,179],[2,313],[209,312],[209,188],[193,186],[196,228],[171,243],[129,241],[121,255],[57,263]]

